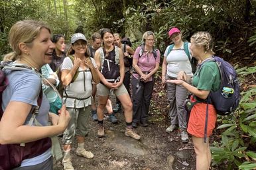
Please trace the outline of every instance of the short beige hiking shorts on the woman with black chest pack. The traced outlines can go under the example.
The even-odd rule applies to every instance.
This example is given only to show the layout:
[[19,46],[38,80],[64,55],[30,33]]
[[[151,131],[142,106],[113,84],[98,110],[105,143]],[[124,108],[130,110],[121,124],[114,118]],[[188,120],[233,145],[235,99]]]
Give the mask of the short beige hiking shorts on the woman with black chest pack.
[[[99,83],[97,84],[97,95],[99,96],[108,96],[110,92],[110,89],[107,88],[105,85]],[[120,96],[123,94],[128,94],[127,89],[125,88],[125,85],[122,85],[118,87],[118,89],[114,89],[113,93],[115,96]]]

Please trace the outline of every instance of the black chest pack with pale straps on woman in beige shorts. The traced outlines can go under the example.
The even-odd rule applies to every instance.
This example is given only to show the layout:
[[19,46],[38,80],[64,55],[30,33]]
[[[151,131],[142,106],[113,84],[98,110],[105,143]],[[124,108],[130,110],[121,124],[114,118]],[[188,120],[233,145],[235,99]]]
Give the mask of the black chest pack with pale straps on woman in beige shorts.
[[115,61],[105,58],[105,49],[99,48],[101,73],[105,79],[111,83],[115,82],[120,76],[119,69],[119,48],[115,46]]

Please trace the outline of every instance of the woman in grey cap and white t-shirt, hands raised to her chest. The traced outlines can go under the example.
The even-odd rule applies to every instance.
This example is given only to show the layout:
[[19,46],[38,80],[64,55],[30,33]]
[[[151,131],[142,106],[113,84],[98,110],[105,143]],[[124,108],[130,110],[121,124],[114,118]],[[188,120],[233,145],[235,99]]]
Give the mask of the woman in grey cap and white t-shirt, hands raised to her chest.
[[63,134],[64,169],[74,169],[70,159],[71,144],[74,136],[78,142],[76,155],[92,159],[94,154],[84,149],[85,136],[88,134],[88,119],[92,105],[92,81],[99,83],[95,60],[88,54],[84,34],[76,33],[71,37],[68,56],[62,64],[61,79],[65,87],[64,101],[70,112],[71,120]]

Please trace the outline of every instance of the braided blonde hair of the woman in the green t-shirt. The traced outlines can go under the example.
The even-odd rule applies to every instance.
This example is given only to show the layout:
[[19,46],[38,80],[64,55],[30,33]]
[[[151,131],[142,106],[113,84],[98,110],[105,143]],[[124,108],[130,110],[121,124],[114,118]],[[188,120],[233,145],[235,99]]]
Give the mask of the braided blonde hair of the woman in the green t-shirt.
[[209,32],[200,31],[193,34],[190,38],[194,40],[197,46],[203,46],[205,53],[215,54],[212,50],[214,48],[214,41]]

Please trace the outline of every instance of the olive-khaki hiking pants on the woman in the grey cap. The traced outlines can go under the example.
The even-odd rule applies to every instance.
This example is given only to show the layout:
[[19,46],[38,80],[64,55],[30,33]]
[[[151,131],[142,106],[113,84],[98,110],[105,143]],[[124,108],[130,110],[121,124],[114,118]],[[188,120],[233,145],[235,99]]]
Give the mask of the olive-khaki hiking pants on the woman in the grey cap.
[[64,131],[62,142],[63,144],[72,144],[74,134],[76,136],[85,137],[88,134],[88,120],[90,118],[91,106],[82,108],[67,108],[70,112],[70,122]]

